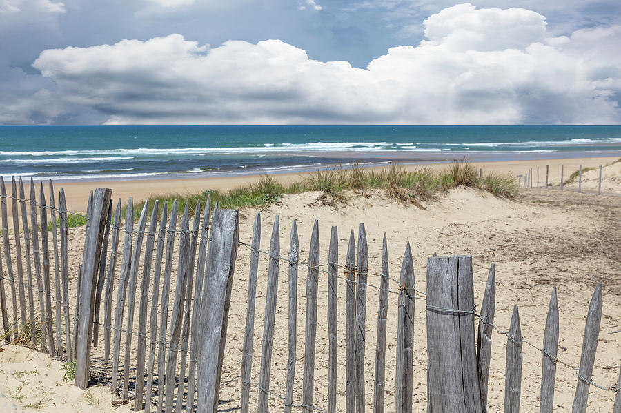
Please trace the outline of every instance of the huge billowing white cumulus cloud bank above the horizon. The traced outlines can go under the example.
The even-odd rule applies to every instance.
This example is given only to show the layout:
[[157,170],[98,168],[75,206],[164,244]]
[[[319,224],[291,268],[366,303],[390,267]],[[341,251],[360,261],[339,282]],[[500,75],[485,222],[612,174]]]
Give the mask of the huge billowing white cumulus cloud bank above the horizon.
[[424,30],[365,69],[279,40],[180,34],[45,50],[34,67],[57,103],[108,124],[621,123],[621,26],[552,37],[536,12],[462,4]]

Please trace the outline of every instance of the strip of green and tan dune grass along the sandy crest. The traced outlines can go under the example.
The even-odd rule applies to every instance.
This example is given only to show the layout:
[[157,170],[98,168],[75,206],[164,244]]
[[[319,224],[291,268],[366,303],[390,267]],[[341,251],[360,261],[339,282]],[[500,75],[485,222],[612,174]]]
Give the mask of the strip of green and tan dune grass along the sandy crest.
[[[155,199],[159,199],[160,203],[168,203],[169,211],[172,201],[177,199],[179,214],[183,212],[183,205],[187,201],[190,214],[194,214],[197,201],[201,201],[201,208],[204,208],[209,195],[211,195],[212,208],[217,201],[219,208],[240,209],[267,207],[278,201],[284,194],[322,191],[324,194],[331,195],[331,199],[339,201],[342,200],[344,190],[364,192],[364,190],[371,189],[384,190],[390,199],[422,208],[422,202],[436,199],[440,193],[457,187],[477,188],[507,199],[517,196],[517,186],[511,175],[491,172],[479,177],[478,171],[466,159],[455,160],[444,170],[438,172],[428,168],[408,171],[398,164],[390,165],[382,170],[370,170],[354,163],[351,168],[337,165],[333,168],[317,170],[287,185],[279,183],[270,175],[263,175],[255,183],[242,185],[226,192],[205,190],[193,194],[152,194],[149,197],[148,212],[152,211]],[[143,206],[144,201],[134,204],[136,220]]]

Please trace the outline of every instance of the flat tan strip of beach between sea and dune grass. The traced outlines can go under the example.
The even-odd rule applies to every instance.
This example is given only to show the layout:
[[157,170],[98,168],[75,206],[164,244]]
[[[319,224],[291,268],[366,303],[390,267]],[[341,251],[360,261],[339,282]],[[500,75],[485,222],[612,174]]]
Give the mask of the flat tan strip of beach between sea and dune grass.
[[[549,183],[552,185],[558,185],[560,182],[561,165],[564,167],[564,179],[569,177],[571,172],[578,170],[580,165],[583,168],[597,167],[602,164],[611,163],[618,159],[617,155],[609,157],[581,157],[581,158],[564,158],[564,159],[528,159],[521,161],[488,161],[488,162],[471,162],[475,168],[481,168],[482,173],[486,172],[498,172],[498,173],[511,173],[511,174],[524,174],[529,168],[533,168],[533,186],[536,185],[536,168],[540,168],[539,182],[540,186],[544,185],[546,179],[546,165],[549,166]],[[422,168],[428,168],[431,170],[440,170],[446,168],[446,163],[415,163],[415,164],[401,164],[406,170],[420,170]],[[373,167],[365,167],[371,169],[386,168],[386,165],[379,165]],[[325,169],[325,168],[320,168]],[[283,172],[279,174],[270,174],[275,177],[281,183],[290,183],[303,179],[309,172]],[[119,197],[121,203],[125,204],[129,197],[133,197],[134,202],[153,197],[158,194],[186,194],[201,192],[204,190],[230,190],[238,186],[246,185],[253,181],[256,181],[262,174],[247,174],[247,175],[231,175],[231,176],[219,176],[219,177],[184,177],[183,179],[161,179],[160,177],[154,179],[135,179],[135,180],[114,180],[106,179],[103,181],[54,181],[55,190],[64,188],[66,194],[66,202],[68,210],[72,212],[84,212],[86,211],[86,203],[88,200],[88,194],[95,188],[112,188],[112,199],[116,202]],[[7,184],[7,193],[10,194],[10,180],[5,181]],[[37,185],[37,184],[35,184]],[[37,185],[39,186],[39,185]],[[46,197],[48,197],[47,185],[44,183],[46,189]],[[30,190],[30,183],[24,183],[24,190],[26,193]],[[38,193],[38,192],[37,192]],[[8,208],[10,210],[10,208]],[[9,211],[10,214],[10,211]]]

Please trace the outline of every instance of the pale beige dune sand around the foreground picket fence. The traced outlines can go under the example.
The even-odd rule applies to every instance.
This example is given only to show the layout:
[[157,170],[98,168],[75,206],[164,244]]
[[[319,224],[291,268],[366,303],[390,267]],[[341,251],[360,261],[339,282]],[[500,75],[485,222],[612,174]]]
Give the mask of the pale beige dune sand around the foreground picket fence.
[[[582,165],[598,165],[601,160],[573,160]],[[607,159],[606,161],[611,161]],[[552,164],[554,161],[544,161]],[[604,162],[605,163],[605,162]],[[564,163],[565,170],[573,166]],[[536,165],[531,163],[531,168]],[[560,163],[559,169],[560,169]],[[528,166],[505,165],[502,168],[526,170]],[[577,165],[576,165],[577,167]],[[499,167],[500,168],[500,167]],[[560,171],[559,171],[560,172]],[[541,173],[541,172],[540,172]],[[587,172],[588,173],[588,172]],[[569,175],[566,172],[566,175]],[[585,174],[586,176],[586,174]],[[615,175],[616,176],[616,175]],[[614,177],[606,178],[614,181]],[[164,182],[164,181],[162,181]],[[154,183],[154,185],[157,183]],[[83,185],[83,184],[75,184]],[[119,183],[130,185],[130,183]],[[135,185],[135,183],[134,183]],[[195,183],[188,183],[195,185]],[[92,188],[92,185],[85,185]],[[124,186],[123,186],[124,187]],[[74,188],[65,185],[68,194]],[[68,189],[70,188],[70,189]],[[79,186],[77,186],[79,188]],[[129,187],[127,187],[129,188]],[[146,185],[135,187],[137,192],[150,191]],[[79,190],[76,190],[79,192]],[[115,196],[123,195],[113,193]],[[406,241],[410,241],[414,259],[417,288],[424,291],[426,257],[434,252],[439,255],[470,254],[473,256],[475,302],[480,308],[489,265],[496,265],[497,299],[496,323],[506,330],[509,327],[513,305],[520,306],[522,333],[533,343],[542,342],[547,305],[553,286],[558,288],[560,307],[559,357],[566,363],[578,365],[586,310],[595,282],[604,283],[604,310],[598,353],[595,358],[593,380],[602,385],[612,385],[618,380],[621,354],[621,197],[595,197],[589,194],[560,192],[556,190],[522,190],[517,201],[497,199],[475,190],[455,189],[442,194],[436,201],[425,204],[426,210],[390,201],[381,190],[362,194],[348,192],[344,203],[324,206],[318,200],[321,194],[286,195],[264,210],[242,211],[240,241],[250,243],[252,223],[256,212],[262,214],[262,248],[268,248],[271,225],[275,216],[280,217],[281,251],[288,250],[288,236],[294,219],[297,219],[300,239],[300,259],[308,259],[308,244],[314,219],[319,219],[321,262],[327,259],[328,239],[332,225],[339,228],[339,263],[344,263],[349,231],[357,234],[359,223],[366,225],[369,248],[369,271],[380,272],[382,236],[386,232],[391,276],[398,276]],[[138,196],[137,196],[138,197]],[[83,228],[70,232],[71,279],[81,260]],[[249,251],[240,246],[233,280],[228,338],[221,389],[221,409],[235,409],[239,405],[241,385],[239,376],[240,354],[246,319],[248,291]],[[173,263],[176,268],[176,264]],[[263,331],[268,260],[259,261],[257,304],[253,357],[253,383],[258,383],[260,352]],[[287,358],[287,269],[281,265],[278,285],[276,329],[272,359],[270,390],[284,394]],[[118,274],[117,274],[118,276]],[[369,276],[371,284],[379,285],[377,276]],[[294,402],[301,401],[302,370],[304,364],[304,308],[306,272],[300,268],[298,282],[297,370]],[[174,288],[172,283],[171,288]],[[391,283],[391,289],[396,286]],[[337,411],[344,410],[344,361],[345,319],[344,283],[339,281],[339,372],[337,383]],[[75,285],[72,287],[75,299]],[[319,276],[319,306],[317,323],[317,360],[315,372],[315,404],[326,407],[327,394],[327,281]],[[389,294],[388,334],[386,359],[386,411],[394,411],[394,372],[397,305],[396,295]],[[373,376],[375,360],[375,335],[377,320],[377,290],[368,288],[366,322],[366,401],[367,410],[373,403]],[[414,350],[414,410],[422,411],[426,405],[426,328],[424,301],[416,302]],[[489,405],[491,412],[502,412],[504,403],[504,351],[506,338],[493,334],[490,372]],[[83,411],[126,412],[128,406],[112,406],[113,400],[105,384],[95,385],[82,392],[63,381],[61,363],[52,361],[32,350],[17,345],[3,347],[0,352],[0,411],[34,404],[39,412]],[[101,347],[95,350],[100,356]],[[122,353],[122,351],[121,351]],[[121,358],[122,358],[121,354]],[[542,354],[524,346],[522,379],[522,411],[538,411]],[[95,361],[102,367],[101,361]],[[35,372],[36,371],[36,372]],[[233,379],[233,381],[229,380]],[[555,405],[559,411],[570,409],[576,376],[573,370],[558,366]],[[21,395],[26,396],[21,399]],[[614,393],[591,387],[589,411],[611,411]],[[252,389],[250,400],[255,410],[257,391]],[[39,403],[40,402],[40,403]],[[5,403],[3,405],[2,403]],[[33,408],[33,407],[28,407]],[[28,408],[26,410],[28,410]],[[282,402],[270,399],[270,410],[282,409]]]

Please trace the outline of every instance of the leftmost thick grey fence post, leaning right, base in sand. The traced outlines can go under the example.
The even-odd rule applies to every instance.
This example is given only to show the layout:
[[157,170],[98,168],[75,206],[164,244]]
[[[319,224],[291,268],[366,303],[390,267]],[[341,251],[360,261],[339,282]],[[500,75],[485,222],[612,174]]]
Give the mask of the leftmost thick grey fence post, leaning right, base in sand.
[[[76,342],[75,385],[86,389],[90,370],[90,339],[92,334],[93,299],[95,298],[95,271],[99,264],[101,242],[106,223],[106,212],[112,190],[97,188],[93,197],[92,210],[89,216],[90,228],[86,234],[86,245],[82,258],[82,280],[79,291],[80,312],[78,315],[78,335]],[[51,343],[50,343],[51,345]]]

